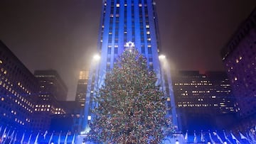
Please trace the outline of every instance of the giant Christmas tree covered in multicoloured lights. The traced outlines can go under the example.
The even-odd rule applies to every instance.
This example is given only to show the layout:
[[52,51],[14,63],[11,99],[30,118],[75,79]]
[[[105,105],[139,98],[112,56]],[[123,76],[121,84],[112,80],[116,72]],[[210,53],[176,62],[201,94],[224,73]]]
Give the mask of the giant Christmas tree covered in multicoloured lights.
[[126,48],[95,99],[86,140],[96,143],[161,143],[174,131],[156,74],[135,48]]

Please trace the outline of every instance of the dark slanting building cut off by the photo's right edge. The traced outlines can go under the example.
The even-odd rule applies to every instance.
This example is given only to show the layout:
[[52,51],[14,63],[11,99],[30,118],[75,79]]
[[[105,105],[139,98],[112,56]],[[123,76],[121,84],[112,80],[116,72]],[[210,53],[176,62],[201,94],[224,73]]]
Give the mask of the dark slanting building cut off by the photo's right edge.
[[[221,51],[243,127],[256,124],[256,9]],[[241,126],[241,125],[240,125]]]

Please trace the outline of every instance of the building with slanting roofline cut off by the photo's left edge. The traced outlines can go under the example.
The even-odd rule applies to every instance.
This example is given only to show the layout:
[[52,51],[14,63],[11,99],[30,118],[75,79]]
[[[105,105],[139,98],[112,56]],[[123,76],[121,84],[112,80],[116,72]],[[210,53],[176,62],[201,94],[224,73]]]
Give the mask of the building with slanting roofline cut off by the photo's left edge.
[[0,126],[36,131],[44,127],[34,113],[38,80],[0,40]]

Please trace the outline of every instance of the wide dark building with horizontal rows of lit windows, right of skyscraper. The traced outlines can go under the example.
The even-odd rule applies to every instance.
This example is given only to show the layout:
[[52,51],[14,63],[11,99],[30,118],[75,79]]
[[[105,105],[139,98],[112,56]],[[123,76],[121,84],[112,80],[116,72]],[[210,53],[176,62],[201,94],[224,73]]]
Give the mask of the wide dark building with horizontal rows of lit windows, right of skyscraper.
[[201,131],[216,128],[218,124],[225,125],[218,123],[218,116],[235,113],[233,94],[225,72],[201,74],[198,71],[180,71],[173,72],[172,79],[181,129]]

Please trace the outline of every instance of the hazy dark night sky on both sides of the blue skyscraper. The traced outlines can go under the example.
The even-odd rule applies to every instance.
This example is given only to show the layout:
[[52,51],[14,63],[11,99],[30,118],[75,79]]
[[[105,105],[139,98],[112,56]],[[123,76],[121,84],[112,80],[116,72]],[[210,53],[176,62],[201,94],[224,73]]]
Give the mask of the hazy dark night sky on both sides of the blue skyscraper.
[[[28,67],[57,70],[75,98],[97,49],[102,0],[1,0],[0,39]],[[174,70],[224,70],[220,49],[255,0],[158,0],[161,50]]]

